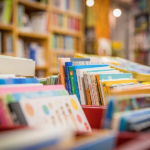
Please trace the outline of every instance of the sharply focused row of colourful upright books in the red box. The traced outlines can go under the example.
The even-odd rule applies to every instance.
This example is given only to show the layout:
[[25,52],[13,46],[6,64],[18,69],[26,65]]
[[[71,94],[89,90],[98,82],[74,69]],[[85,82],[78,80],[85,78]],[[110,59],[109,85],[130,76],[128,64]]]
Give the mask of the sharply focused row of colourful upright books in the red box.
[[60,58],[59,62],[60,67],[65,64],[61,76],[65,79],[66,89],[70,95],[76,94],[82,105],[107,106],[112,89],[141,86],[132,73],[115,70],[98,59]]

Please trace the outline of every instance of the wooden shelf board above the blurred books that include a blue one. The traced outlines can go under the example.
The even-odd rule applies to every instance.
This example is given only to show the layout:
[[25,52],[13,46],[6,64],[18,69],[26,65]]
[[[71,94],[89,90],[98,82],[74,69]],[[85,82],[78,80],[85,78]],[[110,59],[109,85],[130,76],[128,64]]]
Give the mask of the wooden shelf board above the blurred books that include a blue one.
[[35,38],[35,39],[47,39],[48,35],[47,34],[41,34],[41,33],[35,33],[35,32],[25,32],[18,30],[18,35],[23,36],[23,37],[28,37],[28,38]]

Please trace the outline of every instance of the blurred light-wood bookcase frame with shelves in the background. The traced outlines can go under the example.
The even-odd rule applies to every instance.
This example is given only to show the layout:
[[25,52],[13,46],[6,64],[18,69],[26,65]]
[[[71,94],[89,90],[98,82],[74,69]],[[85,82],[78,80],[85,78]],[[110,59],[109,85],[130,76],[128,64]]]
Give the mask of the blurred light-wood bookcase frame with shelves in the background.
[[[10,34],[12,36],[12,52],[8,53],[6,51],[1,52],[1,55],[8,55],[8,56],[15,56],[15,57],[21,57],[18,56],[18,53],[21,51],[25,51],[25,45],[29,45],[30,43],[38,43],[43,50],[44,55],[44,61],[45,64],[43,65],[36,65],[36,72],[43,71],[44,76],[48,76],[51,74],[58,74],[59,69],[58,65],[54,65],[53,63],[53,57],[55,59],[59,57],[73,57],[76,52],[84,53],[84,6],[85,1],[78,1],[80,5],[80,10],[74,4],[69,5],[69,9],[62,9],[55,6],[55,0],[47,0],[46,3],[42,2],[36,2],[31,0],[10,0],[12,2],[12,16],[11,21],[9,23],[3,23],[0,21],[0,32],[3,34]],[[72,0],[73,1],[73,0]],[[60,2],[62,2],[60,0]],[[65,0],[63,0],[65,2]],[[73,2],[72,2],[73,3]],[[74,2],[75,3],[75,2]],[[19,15],[21,14],[20,9],[21,7],[24,9],[24,13],[28,16],[30,19],[30,23],[32,24],[32,14],[38,14],[38,13],[45,13],[46,16],[46,26],[45,30],[46,32],[37,32],[35,31],[34,27],[33,30],[30,30],[28,28],[24,28],[20,26],[20,20]],[[66,6],[67,7],[67,6]],[[71,8],[71,9],[70,9]],[[58,17],[62,17],[62,23],[67,24],[67,27],[59,27],[59,25],[52,25],[52,14],[58,15]],[[34,17],[34,15],[33,15]],[[64,23],[64,18],[67,18],[67,22]],[[69,29],[69,19],[72,19],[72,25],[76,23],[76,26],[74,25],[74,29]],[[60,18],[59,18],[60,19]],[[60,21],[60,20],[59,20]],[[74,22],[73,22],[74,21]],[[58,23],[58,20],[57,20]],[[60,22],[59,22],[60,23]],[[37,23],[38,24],[38,23]],[[37,30],[37,29],[36,29]],[[72,39],[72,48],[63,48],[57,47],[53,48],[53,43],[58,43],[57,41],[53,42],[53,35],[59,35],[59,38],[63,37],[64,39]],[[56,40],[56,39],[55,39]],[[3,38],[1,39],[3,41]],[[18,41],[22,42],[21,44],[18,44]],[[59,41],[60,43],[60,41]],[[70,43],[67,41],[66,43]],[[24,45],[24,49],[22,50],[19,46]],[[64,43],[63,43],[64,45]],[[76,45],[76,46],[75,46]],[[25,52],[24,52],[25,53]],[[42,52],[41,52],[42,53]],[[26,57],[23,55],[23,57]],[[38,76],[38,75],[37,75]],[[44,77],[43,76],[43,77]]]

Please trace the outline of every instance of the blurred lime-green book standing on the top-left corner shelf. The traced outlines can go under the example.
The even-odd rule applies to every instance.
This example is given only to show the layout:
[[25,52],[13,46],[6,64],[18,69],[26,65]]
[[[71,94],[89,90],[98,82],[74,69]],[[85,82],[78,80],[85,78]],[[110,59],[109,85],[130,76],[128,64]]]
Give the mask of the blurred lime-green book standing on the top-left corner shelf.
[[12,16],[12,1],[5,0],[2,14],[2,23],[9,24]]

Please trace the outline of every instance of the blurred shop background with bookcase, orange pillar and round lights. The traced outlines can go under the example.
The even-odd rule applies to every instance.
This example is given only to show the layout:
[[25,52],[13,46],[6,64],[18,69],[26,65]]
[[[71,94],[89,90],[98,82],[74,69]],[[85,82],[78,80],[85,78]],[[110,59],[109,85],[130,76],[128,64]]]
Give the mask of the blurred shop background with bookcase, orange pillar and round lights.
[[0,0],[0,53],[35,60],[37,77],[75,53],[150,65],[149,15],[149,0]]

